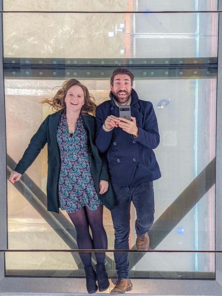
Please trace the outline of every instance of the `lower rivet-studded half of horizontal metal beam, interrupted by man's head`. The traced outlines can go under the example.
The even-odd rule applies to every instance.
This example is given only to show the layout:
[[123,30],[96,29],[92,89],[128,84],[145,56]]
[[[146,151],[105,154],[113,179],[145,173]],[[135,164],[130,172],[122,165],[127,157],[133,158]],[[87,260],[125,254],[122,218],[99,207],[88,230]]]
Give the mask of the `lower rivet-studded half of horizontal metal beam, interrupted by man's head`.
[[[132,70],[135,79],[199,79],[216,78],[217,68],[214,67],[128,67]],[[17,66],[4,69],[5,78],[17,79],[110,79],[114,68],[106,67],[39,67]]]

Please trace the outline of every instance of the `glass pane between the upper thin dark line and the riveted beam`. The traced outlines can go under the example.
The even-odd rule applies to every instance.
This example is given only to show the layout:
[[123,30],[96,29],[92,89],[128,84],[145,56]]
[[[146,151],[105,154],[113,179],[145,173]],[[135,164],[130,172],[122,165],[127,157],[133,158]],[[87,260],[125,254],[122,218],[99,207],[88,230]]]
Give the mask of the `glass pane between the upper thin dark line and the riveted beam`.
[[4,15],[4,57],[215,57],[217,22],[215,13],[9,13]]

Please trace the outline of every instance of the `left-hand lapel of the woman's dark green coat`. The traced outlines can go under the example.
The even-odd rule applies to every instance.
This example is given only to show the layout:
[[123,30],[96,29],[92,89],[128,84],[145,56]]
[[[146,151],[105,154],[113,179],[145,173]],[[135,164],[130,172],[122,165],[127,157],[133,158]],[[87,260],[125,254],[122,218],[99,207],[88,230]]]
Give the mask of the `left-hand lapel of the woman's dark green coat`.
[[56,132],[59,124],[59,119],[60,119],[60,111],[52,114],[49,117],[49,136],[50,136],[52,148],[58,163],[60,163],[60,157],[59,157],[59,147],[56,139]]

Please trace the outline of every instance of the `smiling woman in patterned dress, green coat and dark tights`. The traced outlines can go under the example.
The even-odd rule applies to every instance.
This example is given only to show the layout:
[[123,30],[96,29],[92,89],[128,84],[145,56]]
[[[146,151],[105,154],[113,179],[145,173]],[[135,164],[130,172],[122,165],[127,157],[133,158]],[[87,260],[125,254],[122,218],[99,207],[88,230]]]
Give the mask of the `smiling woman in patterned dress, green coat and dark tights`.
[[[70,79],[62,84],[52,99],[44,99],[53,110],[32,137],[22,159],[9,180],[18,181],[33,163],[41,149],[48,144],[47,207],[59,213],[66,210],[72,220],[79,249],[107,249],[107,235],[103,227],[103,205],[114,208],[114,196],[109,186],[107,164],[101,160],[95,145],[94,114],[96,104],[86,86]],[[89,233],[89,226],[92,238]],[[95,253],[96,272],[91,253],[80,252],[86,273],[89,294],[109,287],[105,269],[105,253]]]

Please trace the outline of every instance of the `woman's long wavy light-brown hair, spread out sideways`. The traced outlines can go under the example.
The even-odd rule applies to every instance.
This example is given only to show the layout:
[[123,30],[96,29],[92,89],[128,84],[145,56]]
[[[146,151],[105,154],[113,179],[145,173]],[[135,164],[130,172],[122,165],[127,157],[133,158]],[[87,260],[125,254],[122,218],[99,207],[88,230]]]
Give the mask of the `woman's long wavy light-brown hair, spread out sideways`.
[[95,115],[96,104],[94,96],[89,93],[89,90],[81,82],[76,79],[69,79],[62,83],[61,89],[57,91],[53,98],[43,98],[41,104],[49,104],[52,106],[52,111],[64,110],[66,112],[65,97],[70,87],[78,85],[81,87],[84,93],[84,105],[81,109],[81,114],[92,114]]

